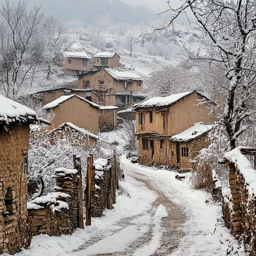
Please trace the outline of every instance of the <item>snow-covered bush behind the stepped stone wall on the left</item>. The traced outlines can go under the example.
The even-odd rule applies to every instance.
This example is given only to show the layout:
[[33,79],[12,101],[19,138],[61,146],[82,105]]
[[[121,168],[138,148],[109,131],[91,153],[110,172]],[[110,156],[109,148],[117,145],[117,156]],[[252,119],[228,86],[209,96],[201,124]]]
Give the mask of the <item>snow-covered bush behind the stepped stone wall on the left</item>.
[[81,156],[82,176],[85,177],[87,156],[94,152],[86,134],[69,127],[49,133],[45,126],[33,126],[29,139],[29,181],[36,180],[40,184],[33,198],[53,191],[55,180],[51,176],[54,169],[73,168],[73,154]]

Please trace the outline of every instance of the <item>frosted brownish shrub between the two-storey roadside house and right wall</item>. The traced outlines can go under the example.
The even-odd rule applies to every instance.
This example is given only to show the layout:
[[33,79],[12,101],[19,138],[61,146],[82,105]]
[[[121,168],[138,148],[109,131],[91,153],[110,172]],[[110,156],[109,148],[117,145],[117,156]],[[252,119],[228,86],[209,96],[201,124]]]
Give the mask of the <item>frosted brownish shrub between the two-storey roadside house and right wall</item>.
[[219,164],[228,143],[227,135],[221,126],[209,132],[208,139],[211,144],[203,148],[194,159],[195,167],[191,171],[190,182],[197,189],[205,189],[212,193],[212,180],[219,178],[222,185],[228,182],[228,173],[223,165]]

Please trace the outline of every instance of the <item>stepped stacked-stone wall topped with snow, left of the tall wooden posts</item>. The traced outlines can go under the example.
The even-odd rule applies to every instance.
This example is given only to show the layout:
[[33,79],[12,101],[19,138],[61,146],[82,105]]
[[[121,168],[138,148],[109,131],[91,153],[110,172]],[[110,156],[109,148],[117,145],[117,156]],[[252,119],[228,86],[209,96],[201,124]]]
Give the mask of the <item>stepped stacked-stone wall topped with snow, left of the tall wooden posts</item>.
[[33,236],[44,233],[59,237],[73,233],[77,227],[77,170],[58,168],[53,178],[55,192],[28,203]]

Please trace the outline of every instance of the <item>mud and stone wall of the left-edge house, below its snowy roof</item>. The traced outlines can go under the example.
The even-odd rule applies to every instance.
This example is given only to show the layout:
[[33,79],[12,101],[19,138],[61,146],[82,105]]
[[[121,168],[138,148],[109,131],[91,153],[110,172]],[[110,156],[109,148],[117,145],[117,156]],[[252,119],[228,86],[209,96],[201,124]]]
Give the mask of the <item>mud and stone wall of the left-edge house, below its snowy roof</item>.
[[23,153],[28,151],[29,123],[0,126],[0,253],[14,254],[28,248],[27,174]]

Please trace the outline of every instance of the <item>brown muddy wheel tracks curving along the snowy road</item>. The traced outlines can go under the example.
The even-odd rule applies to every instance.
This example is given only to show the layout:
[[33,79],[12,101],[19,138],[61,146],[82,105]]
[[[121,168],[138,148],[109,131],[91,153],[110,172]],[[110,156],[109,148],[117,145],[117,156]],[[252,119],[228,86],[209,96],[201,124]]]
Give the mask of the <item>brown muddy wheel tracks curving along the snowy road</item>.
[[[143,256],[143,250],[145,250],[147,246],[154,246],[154,241],[156,240],[160,241],[160,246],[157,246],[158,248],[156,248],[154,254],[151,255],[166,256],[178,248],[181,238],[185,235],[184,229],[182,229],[182,224],[184,224],[186,221],[183,210],[178,207],[172,200],[167,198],[166,195],[164,195],[163,191],[161,191],[161,184],[156,187],[154,182],[151,181],[148,177],[136,172],[130,172],[130,174],[127,175],[134,178],[140,186],[145,186],[146,189],[153,191],[153,193],[157,195],[156,200],[152,202],[151,207],[143,212],[143,214],[121,219],[116,223],[116,225],[120,227],[119,229],[115,230],[114,232],[109,232],[106,234],[101,233],[99,236],[92,237],[90,241],[88,241],[76,251],[77,254],[74,254],[97,256]],[[156,220],[157,210],[159,207],[165,208],[166,217],[158,218],[158,220]],[[130,227],[134,225],[138,218],[143,219],[148,218],[148,216],[151,218],[151,221],[140,226],[140,228],[146,228],[146,231],[142,234],[142,236],[132,241],[124,250],[115,253],[92,254],[93,248],[97,246],[97,243],[100,246],[101,240],[109,239],[109,237],[118,235],[118,233],[122,231],[125,232],[125,230],[129,232]],[[142,227],[143,225],[146,227]]]

